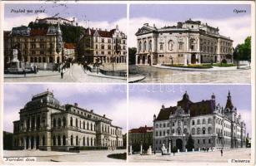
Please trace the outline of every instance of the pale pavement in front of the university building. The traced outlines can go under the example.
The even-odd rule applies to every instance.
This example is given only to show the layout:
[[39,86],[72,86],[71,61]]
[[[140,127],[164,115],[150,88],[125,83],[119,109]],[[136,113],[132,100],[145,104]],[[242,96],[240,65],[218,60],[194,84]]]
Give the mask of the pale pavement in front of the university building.
[[154,155],[140,155],[133,154],[128,155],[128,162],[147,162],[147,163],[162,163],[162,162],[173,162],[173,163],[228,163],[230,159],[251,159],[251,149],[228,149],[223,150],[223,156],[221,157],[220,151],[208,151],[208,152],[194,152],[194,153],[176,153],[172,155],[161,155],[160,153]]

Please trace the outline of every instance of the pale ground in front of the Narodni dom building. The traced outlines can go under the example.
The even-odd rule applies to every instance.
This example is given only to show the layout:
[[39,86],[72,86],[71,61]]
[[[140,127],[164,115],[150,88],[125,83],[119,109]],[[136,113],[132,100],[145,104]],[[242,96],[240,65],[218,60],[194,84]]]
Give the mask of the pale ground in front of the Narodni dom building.
[[114,162],[126,163],[123,159],[108,158],[108,154],[123,154],[126,149],[83,150],[80,153],[41,151],[41,150],[4,150],[3,157],[35,157],[38,162]]

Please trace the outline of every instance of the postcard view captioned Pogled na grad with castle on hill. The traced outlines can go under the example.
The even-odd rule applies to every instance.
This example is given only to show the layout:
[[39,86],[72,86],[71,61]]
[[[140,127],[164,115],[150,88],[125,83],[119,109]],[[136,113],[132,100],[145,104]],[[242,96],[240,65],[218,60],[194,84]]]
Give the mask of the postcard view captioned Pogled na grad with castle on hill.
[[127,82],[127,5],[4,2],[5,82]]

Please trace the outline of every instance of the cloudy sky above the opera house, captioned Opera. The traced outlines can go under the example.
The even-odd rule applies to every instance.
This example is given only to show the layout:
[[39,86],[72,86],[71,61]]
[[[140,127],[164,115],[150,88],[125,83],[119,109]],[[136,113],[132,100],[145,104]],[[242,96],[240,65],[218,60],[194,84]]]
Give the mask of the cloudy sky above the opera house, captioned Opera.
[[[236,13],[234,10],[245,10]],[[221,35],[231,37],[233,46],[250,36],[251,9],[248,4],[133,4],[130,6],[129,47],[137,46],[135,33],[143,23],[156,27],[173,26],[191,18],[218,27]]]

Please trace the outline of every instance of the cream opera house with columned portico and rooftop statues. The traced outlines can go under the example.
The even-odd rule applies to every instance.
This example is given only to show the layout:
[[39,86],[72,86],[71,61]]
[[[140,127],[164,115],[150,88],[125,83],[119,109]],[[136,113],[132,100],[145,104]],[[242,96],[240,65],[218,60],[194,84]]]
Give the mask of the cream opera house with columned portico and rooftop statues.
[[145,23],[136,32],[136,64],[183,65],[233,63],[233,41],[200,21],[178,22],[177,26],[157,28]]

